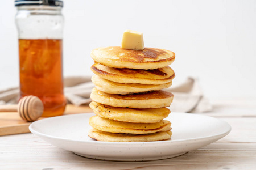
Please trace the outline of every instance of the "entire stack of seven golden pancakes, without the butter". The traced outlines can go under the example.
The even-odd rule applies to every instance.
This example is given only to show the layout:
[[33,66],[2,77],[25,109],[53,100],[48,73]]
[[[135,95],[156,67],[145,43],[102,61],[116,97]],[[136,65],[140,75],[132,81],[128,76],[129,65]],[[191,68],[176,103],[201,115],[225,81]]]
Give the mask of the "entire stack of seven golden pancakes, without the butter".
[[169,50],[97,48],[89,120],[89,137],[97,141],[147,142],[171,138],[170,114],[173,94],[163,91],[174,79],[169,67],[175,54]]

